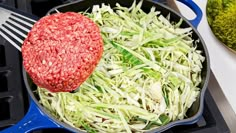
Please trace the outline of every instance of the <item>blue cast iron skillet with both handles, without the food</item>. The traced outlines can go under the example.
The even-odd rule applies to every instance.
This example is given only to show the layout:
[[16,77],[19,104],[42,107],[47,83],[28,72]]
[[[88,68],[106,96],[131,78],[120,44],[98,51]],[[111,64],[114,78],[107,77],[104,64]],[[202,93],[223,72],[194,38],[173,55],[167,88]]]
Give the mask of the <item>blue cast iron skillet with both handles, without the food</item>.
[[[139,0],[137,0],[138,2]],[[157,0],[156,0],[157,1]],[[185,19],[182,15],[175,12],[174,10],[170,9],[167,6],[164,6],[158,2],[153,2],[150,0],[143,0],[143,6],[142,9],[144,11],[149,11],[152,6],[155,6],[157,10],[161,11],[161,14],[164,16],[167,16],[169,13],[171,14],[171,21],[178,22],[180,18],[183,18],[184,22],[181,25],[181,27],[192,27],[193,28],[193,39],[199,39],[200,42],[197,44],[197,49],[203,51],[203,56],[206,57],[205,62],[203,63],[203,69],[202,69],[202,82],[200,84],[201,88],[201,94],[197,98],[196,102],[191,106],[191,108],[187,112],[187,118],[184,120],[178,120],[171,122],[165,126],[162,126],[160,128],[154,129],[150,132],[162,132],[165,131],[173,126],[177,125],[187,125],[187,124],[193,124],[197,122],[203,112],[203,101],[204,101],[204,94],[207,89],[209,77],[210,77],[210,62],[209,62],[209,55],[207,52],[206,45],[199,35],[199,33],[196,30],[196,27],[198,26],[201,18],[202,18],[202,12],[200,8],[192,1],[192,0],[178,0],[185,5],[189,6],[197,15],[197,17],[194,20],[188,21]],[[120,3],[122,6],[130,7],[133,3],[133,0],[78,0],[76,2],[61,5],[58,7],[53,8],[48,12],[48,14],[56,13],[57,11],[60,12],[67,12],[67,11],[85,11],[89,7],[91,8],[95,4],[101,4],[106,3],[110,4],[111,6],[115,6],[115,3]],[[27,75],[26,71],[22,70],[24,82],[27,88],[27,91],[30,95],[30,107],[28,113],[25,115],[25,117],[18,122],[16,125],[9,127],[8,129],[2,131],[2,133],[11,133],[11,132],[31,132],[36,129],[43,129],[43,128],[64,128],[72,132],[82,132],[82,130],[78,130],[66,123],[60,122],[56,118],[54,118],[42,105],[39,103],[38,96],[33,92],[37,89],[36,85],[32,82],[32,80]]]

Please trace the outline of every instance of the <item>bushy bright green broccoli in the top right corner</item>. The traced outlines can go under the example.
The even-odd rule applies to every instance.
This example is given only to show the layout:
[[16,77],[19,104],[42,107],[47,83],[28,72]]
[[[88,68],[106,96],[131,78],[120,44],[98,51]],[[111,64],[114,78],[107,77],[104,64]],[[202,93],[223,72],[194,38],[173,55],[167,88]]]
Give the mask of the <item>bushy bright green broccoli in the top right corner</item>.
[[207,20],[215,36],[236,51],[236,1],[208,0]]

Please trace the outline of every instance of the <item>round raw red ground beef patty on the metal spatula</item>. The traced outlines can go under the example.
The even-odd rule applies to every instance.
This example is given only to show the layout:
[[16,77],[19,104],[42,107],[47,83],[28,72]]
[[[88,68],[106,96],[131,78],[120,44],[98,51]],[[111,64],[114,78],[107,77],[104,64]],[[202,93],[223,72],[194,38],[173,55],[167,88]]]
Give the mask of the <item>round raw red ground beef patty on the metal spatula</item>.
[[33,82],[51,92],[78,88],[103,53],[99,27],[79,13],[41,18],[22,46],[23,65]]

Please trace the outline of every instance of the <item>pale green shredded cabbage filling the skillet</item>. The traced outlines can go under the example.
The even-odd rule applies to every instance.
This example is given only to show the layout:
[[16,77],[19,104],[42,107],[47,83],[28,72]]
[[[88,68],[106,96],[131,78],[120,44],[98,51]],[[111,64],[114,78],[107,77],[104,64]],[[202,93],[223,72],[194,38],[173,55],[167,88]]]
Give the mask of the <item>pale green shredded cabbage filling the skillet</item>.
[[182,20],[142,3],[94,5],[83,12],[99,25],[102,58],[75,93],[38,87],[40,103],[58,120],[87,132],[145,132],[184,119],[200,94],[202,51]]

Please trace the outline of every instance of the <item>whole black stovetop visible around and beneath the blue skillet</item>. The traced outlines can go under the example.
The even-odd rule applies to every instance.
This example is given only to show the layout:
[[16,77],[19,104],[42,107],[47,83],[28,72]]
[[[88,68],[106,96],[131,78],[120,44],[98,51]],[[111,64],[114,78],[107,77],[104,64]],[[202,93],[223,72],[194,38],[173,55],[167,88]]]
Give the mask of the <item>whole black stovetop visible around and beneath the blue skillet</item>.
[[[50,8],[70,1],[73,0],[0,0],[0,3],[42,17]],[[159,1],[168,4],[166,0]],[[21,53],[0,36],[0,132],[21,120],[28,110],[29,100],[21,75],[21,60]],[[68,131],[63,129],[34,131],[34,133],[50,132]],[[173,127],[164,133],[229,132],[222,114],[207,90],[201,119],[195,124]]]

